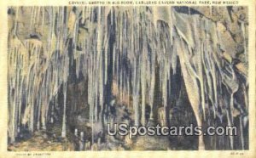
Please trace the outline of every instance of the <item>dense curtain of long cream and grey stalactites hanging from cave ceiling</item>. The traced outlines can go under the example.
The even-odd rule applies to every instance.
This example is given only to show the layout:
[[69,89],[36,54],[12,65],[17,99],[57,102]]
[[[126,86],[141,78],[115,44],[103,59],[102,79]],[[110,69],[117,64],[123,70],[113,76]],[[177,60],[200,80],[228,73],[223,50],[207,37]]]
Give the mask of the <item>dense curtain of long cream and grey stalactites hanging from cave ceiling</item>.
[[[16,8],[17,13],[19,9]],[[168,121],[168,110],[172,107],[170,98],[175,93],[171,87],[176,84],[172,77],[177,75],[179,68],[199,126],[207,120],[207,108],[212,108],[214,116],[220,116],[218,106],[224,108],[219,105],[220,99],[229,103],[228,124],[233,124],[234,96],[240,92],[238,85],[242,85],[247,109],[247,82],[236,76],[232,65],[234,55],[230,55],[232,49],[222,41],[224,36],[230,35],[221,32],[225,27],[221,22],[192,14],[191,8],[189,14],[178,13],[169,7],[30,9],[32,14],[27,18],[30,31],[26,31],[29,37],[20,41],[23,39],[17,33],[20,31],[18,14],[13,21],[15,27],[9,33],[12,43],[9,44],[8,75],[11,142],[15,142],[20,126],[29,125],[31,132],[35,124],[38,130],[46,129],[47,118],[55,115],[57,109],[63,110],[61,136],[67,136],[67,107],[72,106],[67,104],[67,86],[68,78],[73,77],[69,68],[74,61],[76,79],[86,80],[92,144],[95,141],[93,133],[97,132],[95,124],[109,121],[104,112],[110,104],[108,97],[113,95],[107,92],[109,87],[113,88],[113,82],[117,89],[112,90],[118,91],[115,97],[122,103],[131,102],[136,126],[147,125],[147,104],[151,109],[150,119],[155,119],[154,108],[164,107],[165,121]],[[211,13],[212,10],[214,7]],[[246,65],[247,24],[241,22],[240,29]],[[38,37],[33,37],[37,33]],[[242,74],[247,77],[244,72]],[[154,104],[158,84],[162,102]],[[224,88],[228,89],[228,97],[218,94],[224,92]],[[63,104],[58,103],[60,92],[63,92]],[[106,93],[110,93],[108,97]],[[24,97],[22,103],[20,98]],[[208,107],[206,104],[210,103],[212,106]],[[231,144],[232,141],[230,138]],[[244,140],[241,138],[241,141]],[[201,137],[200,144],[203,145]]]

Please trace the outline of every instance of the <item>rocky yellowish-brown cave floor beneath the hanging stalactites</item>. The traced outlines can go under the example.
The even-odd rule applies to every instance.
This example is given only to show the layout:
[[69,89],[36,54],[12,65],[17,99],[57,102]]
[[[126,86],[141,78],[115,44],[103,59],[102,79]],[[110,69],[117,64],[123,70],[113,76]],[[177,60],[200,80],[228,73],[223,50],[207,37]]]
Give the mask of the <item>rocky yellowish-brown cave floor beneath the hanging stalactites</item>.
[[[118,118],[129,113],[117,106]],[[132,120],[132,119],[131,119]],[[77,125],[87,128],[87,123]],[[85,138],[89,138],[90,131],[84,131]],[[85,150],[197,150],[196,145],[188,138],[168,138],[165,136],[137,136],[135,138],[117,138],[107,135],[106,141],[101,144],[90,144]],[[86,140],[88,142],[88,140]],[[182,143],[182,144],[180,144]],[[188,145],[189,144],[189,145]],[[186,147],[187,146],[187,147]],[[61,123],[49,124],[47,131],[39,130],[32,134],[23,132],[22,137],[15,144],[9,144],[9,151],[68,151],[79,150],[79,141],[73,132],[67,128],[67,138],[61,138]]]

